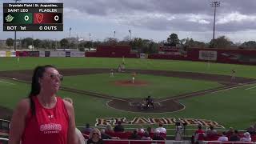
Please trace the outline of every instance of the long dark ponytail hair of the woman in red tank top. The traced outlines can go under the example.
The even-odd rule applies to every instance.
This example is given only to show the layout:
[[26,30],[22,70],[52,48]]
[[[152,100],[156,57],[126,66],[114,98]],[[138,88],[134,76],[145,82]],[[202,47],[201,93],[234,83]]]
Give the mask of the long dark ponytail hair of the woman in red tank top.
[[30,94],[29,94],[30,110],[32,112],[32,115],[35,115],[35,106],[34,106],[34,101],[32,98],[40,93],[41,86],[39,83],[39,78],[42,78],[42,76],[46,72],[47,68],[56,69],[54,66],[51,66],[51,65],[37,66],[33,72],[32,82],[31,82],[31,90],[30,90]]

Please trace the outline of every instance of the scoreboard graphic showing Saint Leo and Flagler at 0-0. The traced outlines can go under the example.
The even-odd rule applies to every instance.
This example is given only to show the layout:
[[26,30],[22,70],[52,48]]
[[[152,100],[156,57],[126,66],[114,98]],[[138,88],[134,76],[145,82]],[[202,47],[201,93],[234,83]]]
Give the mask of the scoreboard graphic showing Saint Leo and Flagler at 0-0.
[[63,3],[3,3],[3,31],[63,31]]

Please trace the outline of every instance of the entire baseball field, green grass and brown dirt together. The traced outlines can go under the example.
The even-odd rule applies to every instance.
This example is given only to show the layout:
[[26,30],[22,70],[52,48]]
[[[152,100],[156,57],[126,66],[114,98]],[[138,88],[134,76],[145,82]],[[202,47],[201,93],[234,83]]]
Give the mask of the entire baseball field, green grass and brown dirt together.
[[[119,73],[122,61],[0,58],[0,118],[10,119],[17,102],[27,97],[34,67],[50,64],[64,75],[58,95],[74,100],[77,126],[95,125],[97,118],[204,119],[238,130],[255,123],[256,66],[125,58],[126,70]],[[236,70],[234,79],[231,70]],[[155,108],[139,109],[148,95]],[[142,120],[135,126],[140,124]]]

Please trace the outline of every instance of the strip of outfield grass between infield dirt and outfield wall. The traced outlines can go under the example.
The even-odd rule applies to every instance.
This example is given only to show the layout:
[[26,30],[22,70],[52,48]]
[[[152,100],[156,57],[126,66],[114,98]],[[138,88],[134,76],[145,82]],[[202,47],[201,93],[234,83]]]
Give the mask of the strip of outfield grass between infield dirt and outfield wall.
[[[52,64],[58,68],[117,68],[122,58],[0,58],[0,70],[26,70],[38,65]],[[125,58],[127,69],[175,70],[208,74],[230,75],[231,70],[245,78],[256,78],[256,66],[220,64],[207,62],[189,62],[172,60],[152,60]]]

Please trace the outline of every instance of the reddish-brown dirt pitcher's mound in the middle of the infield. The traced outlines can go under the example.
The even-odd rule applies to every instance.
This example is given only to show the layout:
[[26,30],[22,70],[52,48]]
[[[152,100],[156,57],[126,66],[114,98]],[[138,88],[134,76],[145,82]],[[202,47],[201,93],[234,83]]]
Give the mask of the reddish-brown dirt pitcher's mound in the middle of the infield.
[[121,81],[115,81],[115,85],[117,86],[147,86],[149,82],[142,81],[142,80],[134,80],[134,83],[132,80],[121,80]]

